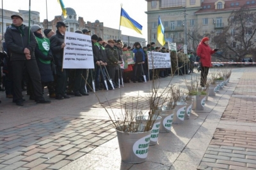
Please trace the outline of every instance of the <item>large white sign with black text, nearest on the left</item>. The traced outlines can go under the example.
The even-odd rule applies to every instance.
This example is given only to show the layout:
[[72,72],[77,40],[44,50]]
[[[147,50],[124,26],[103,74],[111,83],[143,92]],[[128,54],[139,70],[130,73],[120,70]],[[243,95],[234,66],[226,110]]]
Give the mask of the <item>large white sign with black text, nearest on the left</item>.
[[65,32],[63,69],[93,69],[91,37],[75,32]]

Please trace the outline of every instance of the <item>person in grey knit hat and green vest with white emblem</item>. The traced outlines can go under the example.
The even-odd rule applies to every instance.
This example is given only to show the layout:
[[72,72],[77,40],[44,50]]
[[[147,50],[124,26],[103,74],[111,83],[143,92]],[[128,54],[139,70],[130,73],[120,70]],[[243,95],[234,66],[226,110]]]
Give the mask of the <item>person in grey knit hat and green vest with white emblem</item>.
[[[35,56],[41,76],[42,92],[44,92],[44,87],[53,83],[53,74],[51,68],[52,52],[50,50],[50,40],[48,38],[44,38],[42,29],[39,25],[32,25],[31,31],[34,33],[37,41]],[[48,88],[48,90],[49,96],[55,94],[54,89],[51,87]]]

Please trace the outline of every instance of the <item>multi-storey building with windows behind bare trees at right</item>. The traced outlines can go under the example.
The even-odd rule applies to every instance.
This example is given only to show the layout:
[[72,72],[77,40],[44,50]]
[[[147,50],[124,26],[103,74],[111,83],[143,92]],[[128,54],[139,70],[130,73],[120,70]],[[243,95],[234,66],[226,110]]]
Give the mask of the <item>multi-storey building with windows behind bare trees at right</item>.
[[[177,43],[178,48],[185,43],[193,49],[188,32],[197,31],[202,36],[218,35],[228,24],[228,17],[241,6],[256,11],[252,0],[146,0],[148,15],[148,41],[157,42],[157,23],[160,16],[164,26],[166,41]],[[231,30],[230,30],[231,32]],[[232,32],[231,32],[232,33]],[[164,45],[164,46],[167,46]]]

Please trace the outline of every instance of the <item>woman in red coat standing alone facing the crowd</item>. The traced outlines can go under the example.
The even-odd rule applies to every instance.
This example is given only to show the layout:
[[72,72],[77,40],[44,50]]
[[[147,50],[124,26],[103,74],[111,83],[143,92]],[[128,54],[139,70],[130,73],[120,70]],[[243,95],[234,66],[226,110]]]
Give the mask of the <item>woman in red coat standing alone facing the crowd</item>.
[[211,47],[209,46],[209,38],[204,37],[200,44],[197,47],[196,54],[200,57],[200,62],[201,62],[201,81],[200,85],[201,87],[204,87],[207,81],[207,75],[209,71],[209,67],[212,66],[212,53],[217,52],[218,49],[212,50]]

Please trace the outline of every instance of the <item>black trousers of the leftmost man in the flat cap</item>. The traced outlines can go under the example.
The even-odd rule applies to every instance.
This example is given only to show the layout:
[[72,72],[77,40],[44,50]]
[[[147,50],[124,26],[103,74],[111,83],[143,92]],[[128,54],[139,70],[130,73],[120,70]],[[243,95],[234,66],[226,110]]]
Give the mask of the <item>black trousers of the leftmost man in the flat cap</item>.
[[13,60],[12,61],[12,73],[13,73],[13,101],[22,100],[22,78],[24,67],[25,71],[28,71],[28,75],[33,83],[34,94],[36,100],[43,100],[42,84],[39,69],[36,60]]

